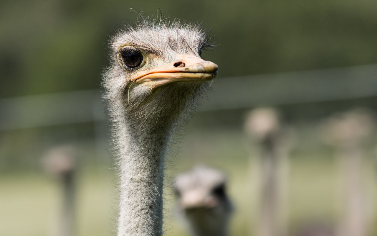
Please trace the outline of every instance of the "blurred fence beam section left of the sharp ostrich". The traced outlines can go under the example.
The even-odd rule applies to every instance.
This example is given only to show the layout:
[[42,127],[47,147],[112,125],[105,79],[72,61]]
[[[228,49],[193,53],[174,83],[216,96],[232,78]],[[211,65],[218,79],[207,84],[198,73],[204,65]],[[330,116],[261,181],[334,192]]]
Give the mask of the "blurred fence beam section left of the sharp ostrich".
[[99,90],[0,99],[0,130],[104,120]]

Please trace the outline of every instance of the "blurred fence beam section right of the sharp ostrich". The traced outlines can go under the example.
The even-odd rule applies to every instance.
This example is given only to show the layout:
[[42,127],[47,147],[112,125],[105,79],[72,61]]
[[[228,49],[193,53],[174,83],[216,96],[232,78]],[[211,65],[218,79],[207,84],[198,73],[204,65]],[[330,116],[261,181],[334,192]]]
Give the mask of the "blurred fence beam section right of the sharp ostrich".
[[202,111],[373,97],[377,65],[219,78],[212,87]]

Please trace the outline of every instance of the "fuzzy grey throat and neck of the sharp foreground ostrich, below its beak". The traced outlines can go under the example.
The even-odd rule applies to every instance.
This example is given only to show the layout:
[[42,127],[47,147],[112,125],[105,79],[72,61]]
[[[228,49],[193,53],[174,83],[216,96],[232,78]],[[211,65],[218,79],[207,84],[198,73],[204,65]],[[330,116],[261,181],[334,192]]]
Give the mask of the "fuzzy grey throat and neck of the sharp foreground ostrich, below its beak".
[[172,131],[194,110],[200,86],[151,91],[147,103],[129,103],[128,94],[111,102],[120,170],[118,236],[162,235],[164,157]]

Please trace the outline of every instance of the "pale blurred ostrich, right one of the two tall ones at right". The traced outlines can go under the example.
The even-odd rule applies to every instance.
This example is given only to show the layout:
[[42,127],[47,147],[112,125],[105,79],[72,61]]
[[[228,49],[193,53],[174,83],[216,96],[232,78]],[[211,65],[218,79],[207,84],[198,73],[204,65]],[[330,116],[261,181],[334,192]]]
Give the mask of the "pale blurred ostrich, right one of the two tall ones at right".
[[336,114],[324,125],[325,139],[336,148],[345,185],[345,214],[338,236],[365,236],[366,211],[362,181],[362,146],[371,136],[374,120],[368,110]]

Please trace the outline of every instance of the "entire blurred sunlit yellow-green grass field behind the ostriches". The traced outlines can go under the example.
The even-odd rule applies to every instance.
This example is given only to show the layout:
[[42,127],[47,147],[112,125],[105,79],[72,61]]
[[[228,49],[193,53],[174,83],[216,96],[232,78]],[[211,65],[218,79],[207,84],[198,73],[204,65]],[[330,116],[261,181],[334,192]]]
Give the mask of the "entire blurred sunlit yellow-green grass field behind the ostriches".
[[[305,134],[303,134],[305,135]],[[237,129],[193,129],[185,134],[178,154],[167,161],[165,230],[169,236],[188,236],[175,210],[170,184],[176,173],[197,164],[217,167],[228,174],[228,193],[234,213],[231,235],[255,235],[257,151]],[[289,161],[288,231],[293,235],[310,222],[335,224],[342,212],[339,167],[333,152],[312,140],[300,141]],[[309,143],[309,144],[308,144]],[[377,175],[366,152],[363,174],[368,195],[370,234],[374,235]],[[109,157],[106,157],[109,158]],[[113,235],[116,191],[114,173],[106,165],[82,165],[77,173],[75,235]],[[0,176],[0,235],[56,235],[61,189],[42,172],[9,172]]]

